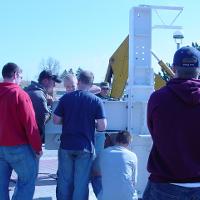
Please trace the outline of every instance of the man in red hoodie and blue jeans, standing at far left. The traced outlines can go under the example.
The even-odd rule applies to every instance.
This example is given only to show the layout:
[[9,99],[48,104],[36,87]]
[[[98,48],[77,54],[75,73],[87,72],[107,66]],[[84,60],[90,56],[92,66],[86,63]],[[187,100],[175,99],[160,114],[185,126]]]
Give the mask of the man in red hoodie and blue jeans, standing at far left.
[[7,63],[0,83],[0,199],[8,200],[14,170],[18,180],[13,200],[32,200],[38,172],[41,140],[31,100],[19,84],[21,69]]

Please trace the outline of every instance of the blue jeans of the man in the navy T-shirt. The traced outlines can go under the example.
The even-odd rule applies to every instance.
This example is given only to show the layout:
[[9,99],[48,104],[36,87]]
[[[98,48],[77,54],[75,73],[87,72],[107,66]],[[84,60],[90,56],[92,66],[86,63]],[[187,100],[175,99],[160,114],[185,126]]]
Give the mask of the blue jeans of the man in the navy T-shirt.
[[58,200],[88,200],[92,161],[91,153],[59,149],[56,188]]

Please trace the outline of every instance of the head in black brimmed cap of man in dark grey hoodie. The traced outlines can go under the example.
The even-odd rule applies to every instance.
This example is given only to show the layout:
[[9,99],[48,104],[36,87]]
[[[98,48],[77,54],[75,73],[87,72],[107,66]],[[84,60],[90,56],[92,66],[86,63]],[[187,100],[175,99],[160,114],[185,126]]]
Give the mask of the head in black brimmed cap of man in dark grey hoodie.
[[39,75],[38,82],[51,94],[55,83],[61,83],[61,80],[57,75],[53,75],[51,70],[43,70]]

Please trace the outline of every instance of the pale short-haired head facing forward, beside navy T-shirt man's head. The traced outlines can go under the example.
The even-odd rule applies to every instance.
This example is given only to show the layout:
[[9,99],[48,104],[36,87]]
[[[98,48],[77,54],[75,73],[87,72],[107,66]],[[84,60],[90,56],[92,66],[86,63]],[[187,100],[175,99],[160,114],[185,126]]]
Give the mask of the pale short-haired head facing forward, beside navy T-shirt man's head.
[[67,74],[64,77],[64,87],[66,92],[73,92],[77,89],[78,80],[74,74]]

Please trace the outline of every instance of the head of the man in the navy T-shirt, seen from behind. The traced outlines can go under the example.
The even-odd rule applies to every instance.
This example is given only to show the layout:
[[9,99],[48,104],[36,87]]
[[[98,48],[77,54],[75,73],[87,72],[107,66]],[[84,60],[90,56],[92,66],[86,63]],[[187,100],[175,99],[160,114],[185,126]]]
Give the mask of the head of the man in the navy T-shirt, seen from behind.
[[83,70],[78,76],[78,88],[81,90],[89,90],[93,85],[94,74],[90,71]]

